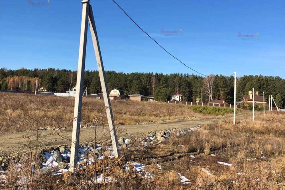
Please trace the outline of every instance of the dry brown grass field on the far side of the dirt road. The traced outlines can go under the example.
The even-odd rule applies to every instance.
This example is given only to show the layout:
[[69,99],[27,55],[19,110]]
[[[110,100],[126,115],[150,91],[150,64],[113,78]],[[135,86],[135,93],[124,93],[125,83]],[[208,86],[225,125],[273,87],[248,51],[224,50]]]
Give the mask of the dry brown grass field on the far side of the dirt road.
[[[195,113],[186,106],[166,103],[122,100],[111,101],[111,105],[115,124],[141,124],[178,118],[209,117]],[[72,128],[73,111],[73,97],[0,93],[0,130],[1,132],[20,132],[47,126]],[[92,119],[102,116],[105,116],[103,100],[83,99],[83,126],[90,126]]]

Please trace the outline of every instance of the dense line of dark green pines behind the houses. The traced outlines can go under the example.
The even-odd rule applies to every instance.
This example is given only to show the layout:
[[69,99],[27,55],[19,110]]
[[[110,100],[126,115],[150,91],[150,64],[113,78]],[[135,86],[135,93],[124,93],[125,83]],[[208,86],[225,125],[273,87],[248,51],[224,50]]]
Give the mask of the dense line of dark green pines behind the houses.
[[[194,74],[163,74],[163,73],[123,73],[105,71],[108,89],[123,90],[125,95],[139,93],[144,96],[154,95],[156,100],[166,101],[178,92],[183,101],[209,102],[211,100],[225,100],[233,103],[234,77],[224,75],[209,75],[202,77]],[[35,82],[46,88],[48,92],[65,93],[70,86],[76,85],[77,71],[66,69],[0,69],[1,89],[16,87],[23,91],[34,91]],[[101,83],[98,71],[86,70],[84,74],[84,88],[88,85],[87,93],[101,93]],[[277,99],[278,106],[285,105],[285,80],[281,77],[244,75],[237,79],[237,101],[247,95],[252,88]]]

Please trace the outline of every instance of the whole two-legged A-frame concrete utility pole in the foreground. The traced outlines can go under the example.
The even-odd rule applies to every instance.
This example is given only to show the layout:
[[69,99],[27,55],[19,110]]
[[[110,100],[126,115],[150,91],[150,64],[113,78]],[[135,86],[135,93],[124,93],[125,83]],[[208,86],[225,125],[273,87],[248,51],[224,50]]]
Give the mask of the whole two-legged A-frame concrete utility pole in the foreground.
[[[72,129],[72,142],[71,142],[71,157],[70,157],[70,171],[74,171],[78,162],[78,146],[79,146],[79,132],[80,132],[80,121],[81,121],[81,109],[82,109],[82,93],[83,93],[83,80],[84,80],[84,68],[85,68],[85,57],[86,57],[86,41],[87,41],[87,26],[89,19],[89,26],[91,30],[91,37],[93,41],[95,56],[97,60],[97,66],[99,71],[100,82],[103,91],[104,103],[106,107],[106,114],[109,123],[110,135],[113,145],[115,157],[119,157],[119,147],[117,141],[117,134],[114,125],[113,113],[111,109],[111,102],[108,94],[108,87],[106,82],[105,71],[103,67],[103,61],[99,46],[99,40],[95,27],[95,21],[93,17],[92,8],[89,4],[89,0],[83,0],[81,2],[82,7],[82,20],[81,20],[81,34],[80,34],[80,45],[79,45],[79,58],[78,58],[78,73],[76,81],[76,96],[74,105],[74,120]],[[87,18],[88,17],[88,18]],[[87,90],[86,90],[87,93]]]

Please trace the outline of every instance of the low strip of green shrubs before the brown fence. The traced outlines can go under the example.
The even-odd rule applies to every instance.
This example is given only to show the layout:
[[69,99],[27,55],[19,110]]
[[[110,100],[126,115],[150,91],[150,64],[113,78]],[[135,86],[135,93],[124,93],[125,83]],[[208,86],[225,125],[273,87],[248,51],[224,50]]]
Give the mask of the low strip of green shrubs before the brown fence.
[[188,106],[187,108],[198,113],[210,115],[225,115],[226,113],[233,113],[233,108],[228,107]]

